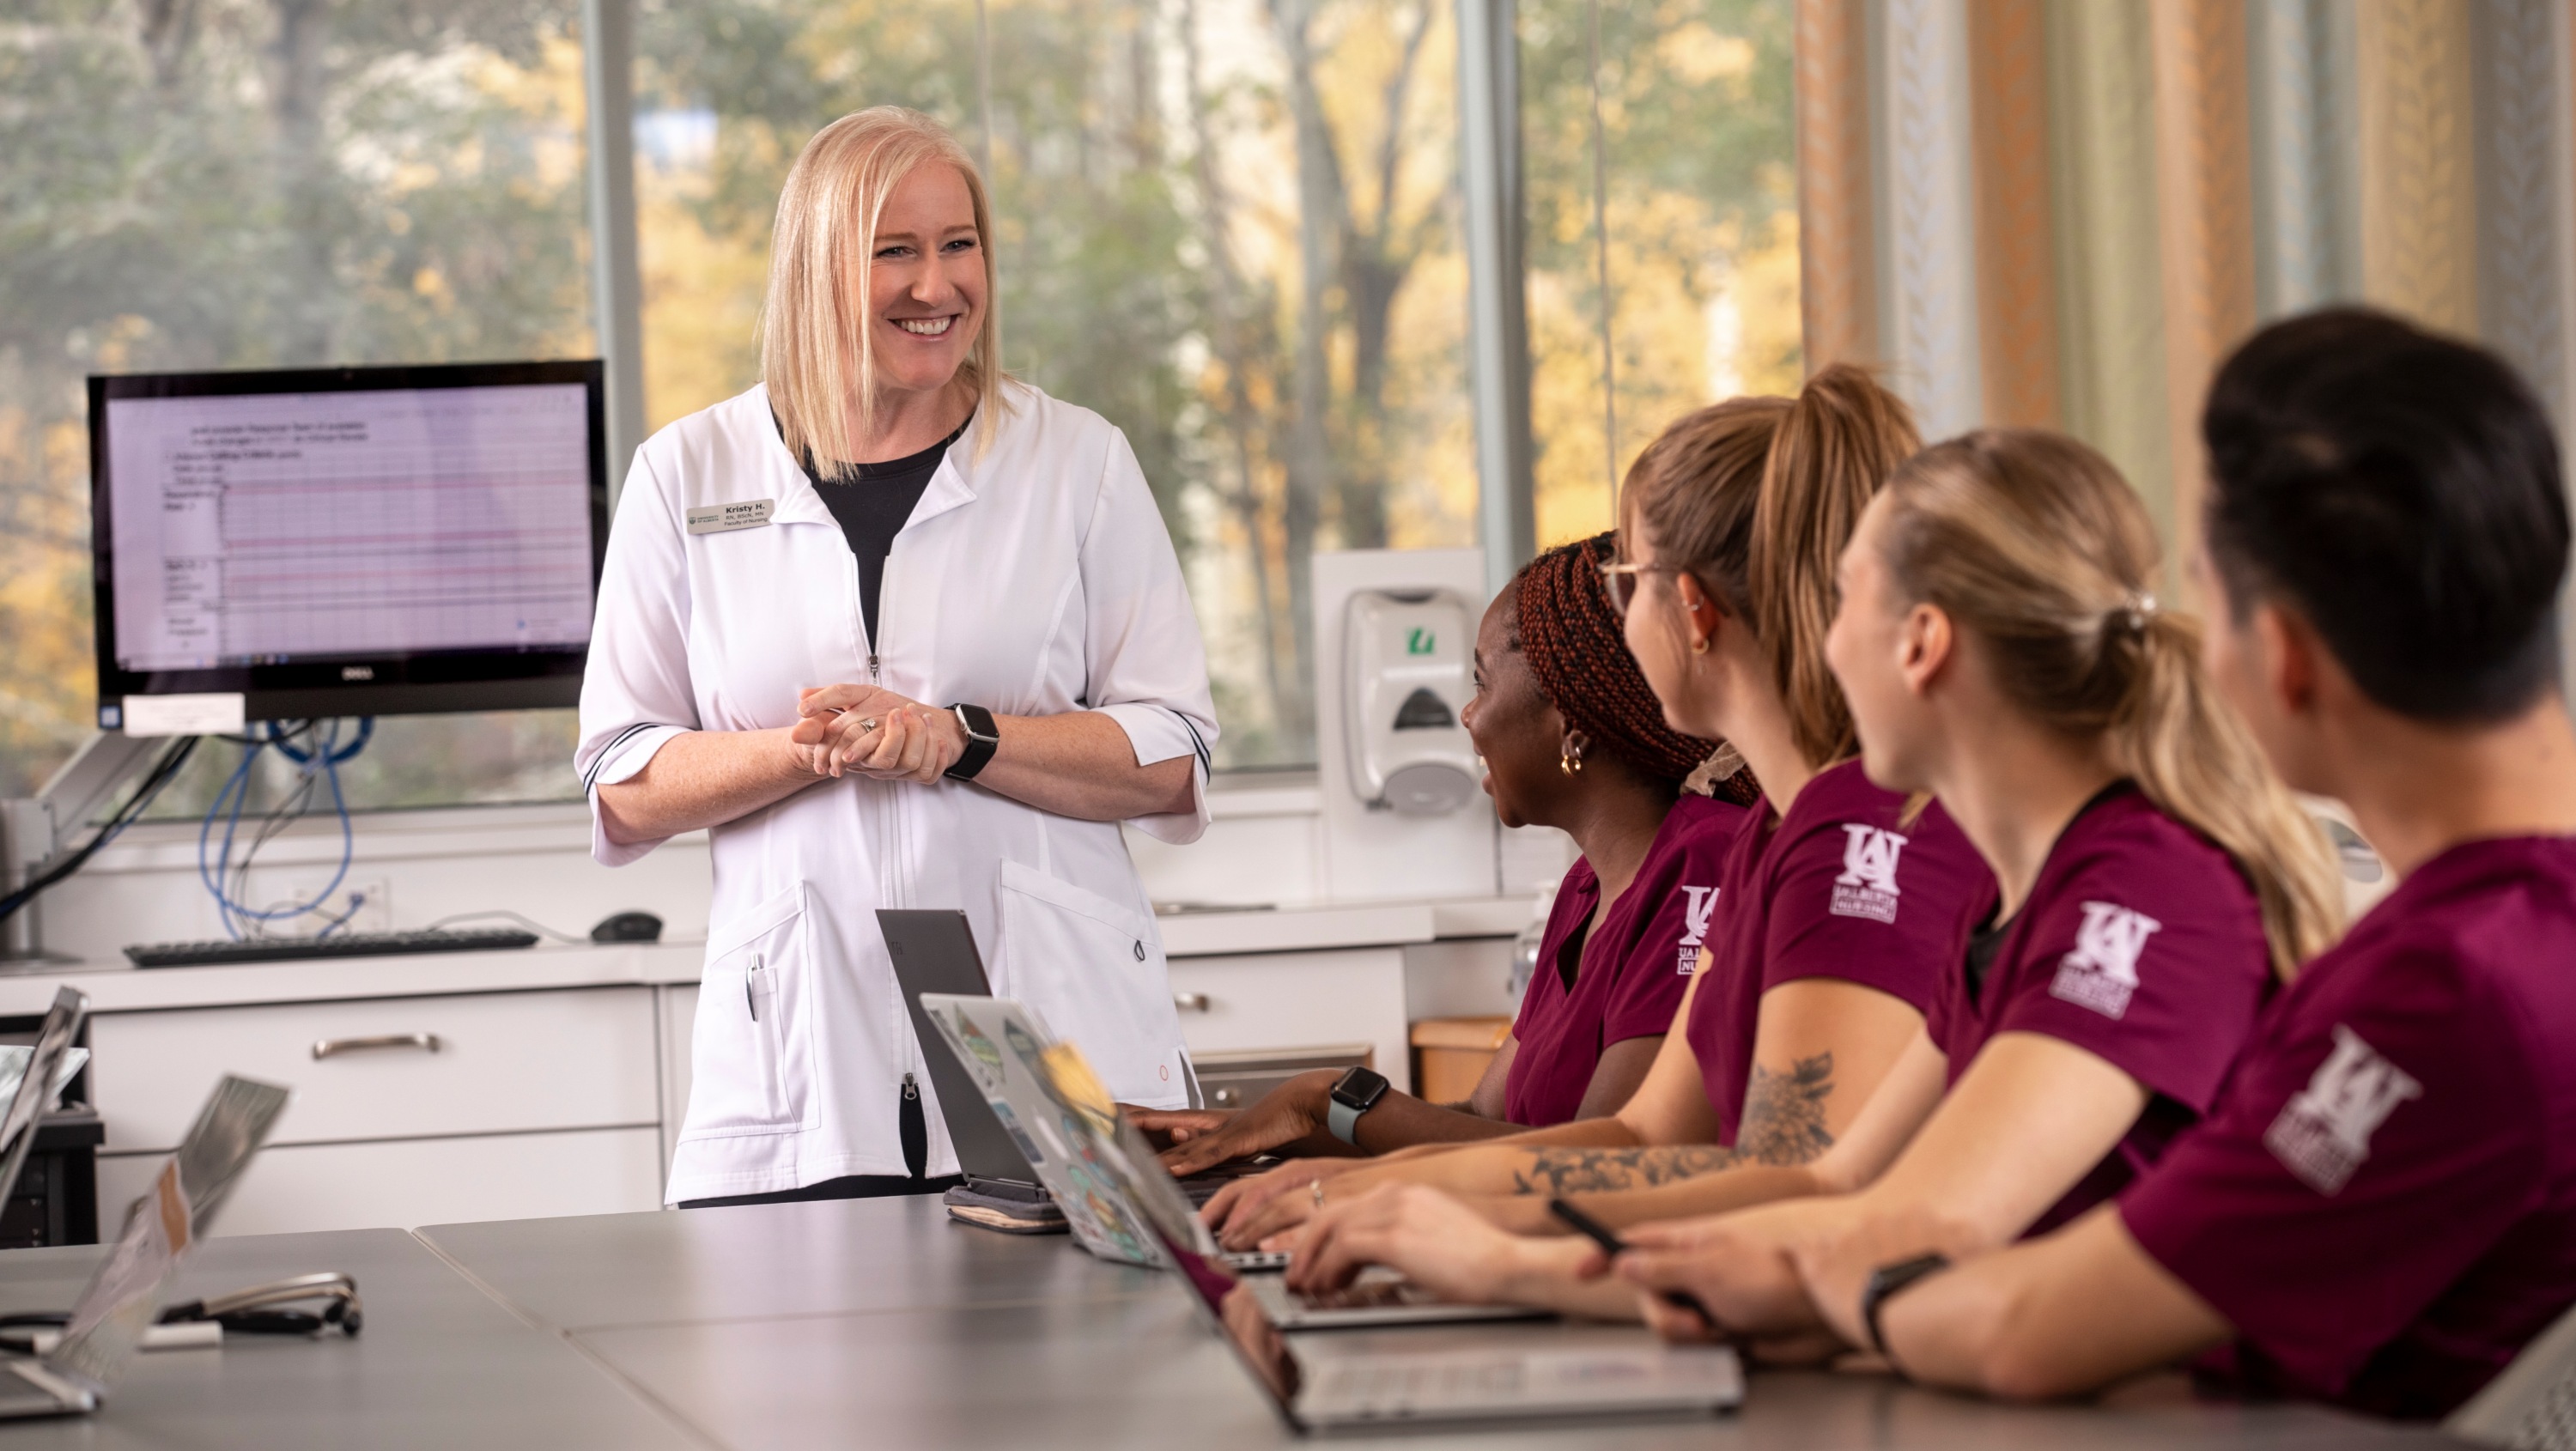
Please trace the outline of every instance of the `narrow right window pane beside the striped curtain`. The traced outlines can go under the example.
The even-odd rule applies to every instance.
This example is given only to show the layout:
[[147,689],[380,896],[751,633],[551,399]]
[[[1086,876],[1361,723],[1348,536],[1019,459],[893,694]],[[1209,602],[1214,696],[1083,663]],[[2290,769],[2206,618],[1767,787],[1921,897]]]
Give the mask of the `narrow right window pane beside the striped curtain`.
[[1674,418],[1795,392],[1793,0],[1522,0],[1538,541]]

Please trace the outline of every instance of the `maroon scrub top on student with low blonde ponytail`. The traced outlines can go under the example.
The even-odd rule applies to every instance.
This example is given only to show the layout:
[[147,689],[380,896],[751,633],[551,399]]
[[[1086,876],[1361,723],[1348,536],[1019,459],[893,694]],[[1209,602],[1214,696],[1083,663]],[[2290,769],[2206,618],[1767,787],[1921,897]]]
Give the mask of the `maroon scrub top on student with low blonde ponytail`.
[[2236,861],[2120,781],[2066,822],[2012,920],[1968,941],[1924,1028],[1953,1085],[1996,1033],[2045,1033],[2146,1088],[2120,1144],[2030,1224],[2040,1235],[2115,1198],[2210,1111],[2272,982]]

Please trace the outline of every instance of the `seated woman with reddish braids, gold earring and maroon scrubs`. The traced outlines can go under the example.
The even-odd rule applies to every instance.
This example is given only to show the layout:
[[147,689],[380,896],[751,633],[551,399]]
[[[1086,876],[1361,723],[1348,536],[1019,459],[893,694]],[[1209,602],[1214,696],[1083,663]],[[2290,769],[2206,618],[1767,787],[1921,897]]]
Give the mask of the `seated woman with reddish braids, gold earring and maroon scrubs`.
[[[1280,1147],[1381,1155],[1597,1119],[1646,1077],[1698,969],[1718,863],[1757,789],[1736,753],[1664,724],[1602,585],[1610,559],[1607,533],[1540,554],[1476,631],[1476,698],[1463,719],[1494,812],[1510,827],[1561,827],[1582,848],[1484,1082],[1455,1106],[1386,1093],[1350,1124],[1347,1142],[1329,1131],[1329,1070],[1298,1075],[1239,1113],[1131,1108],[1139,1126],[1170,1134],[1175,1173]],[[1703,765],[1726,773],[1716,791],[1682,791]]]

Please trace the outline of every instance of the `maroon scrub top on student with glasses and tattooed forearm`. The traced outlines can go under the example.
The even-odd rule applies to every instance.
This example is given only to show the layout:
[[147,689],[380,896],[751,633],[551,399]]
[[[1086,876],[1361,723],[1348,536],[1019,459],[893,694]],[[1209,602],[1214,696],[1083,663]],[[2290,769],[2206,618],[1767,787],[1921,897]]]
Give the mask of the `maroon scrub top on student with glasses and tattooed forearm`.
[[1785,817],[1757,804],[1736,832],[1687,1026],[1721,1144],[1736,1142],[1765,992],[1839,977],[1919,1013],[1958,972],[1968,928],[1994,910],[1994,874],[1947,812],[1937,802],[1914,822],[1904,812],[1904,796],[1844,760],[1819,771]]

